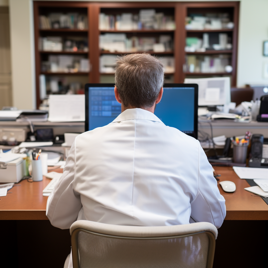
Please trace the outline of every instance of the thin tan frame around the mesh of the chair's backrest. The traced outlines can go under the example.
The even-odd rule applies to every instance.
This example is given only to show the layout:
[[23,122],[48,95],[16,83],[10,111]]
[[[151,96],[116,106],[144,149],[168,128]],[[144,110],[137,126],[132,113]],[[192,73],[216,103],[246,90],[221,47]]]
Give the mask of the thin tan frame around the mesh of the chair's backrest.
[[189,233],[185,235],[176,235],[176,236],[160,236],[160,237],[127,237],[127,236],[115,236],[115,235],[106,235],[102,233],[92,232],[90,230],[86,230],[83,228],[77,228],[73,230],[71,235],[71,245],[72,245],[72,258],[73,258],[73,268],[79,268],[79,252],[78,252],[78,243],[77,243],[77,236],[80,231],[91,233],[93,235],[99,235],[104,237],[110,238],[118,238],[118,239],[132,239],[132,240],[152,240],[152,239],[172,239],[172,238],[180,238],[180,237],[187,237],[187,236],[194,236],[200,233],[206,233],[209,238],[209,247],[207,252],[207,265],[206,268],[212,268],[213,260],[214,260],[214,253],[215,253],[215,236],[210,231],[202,231],[197,233]]

